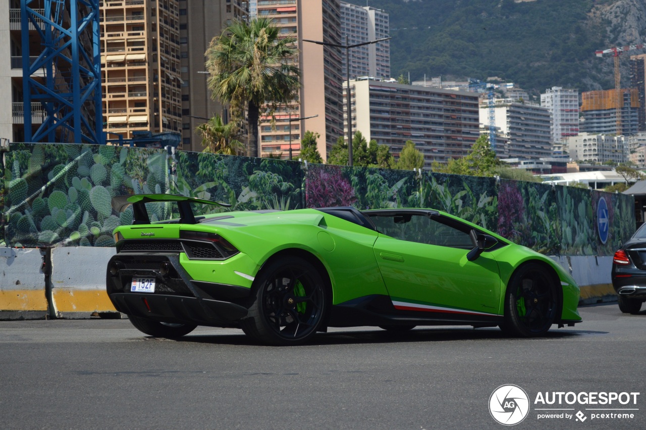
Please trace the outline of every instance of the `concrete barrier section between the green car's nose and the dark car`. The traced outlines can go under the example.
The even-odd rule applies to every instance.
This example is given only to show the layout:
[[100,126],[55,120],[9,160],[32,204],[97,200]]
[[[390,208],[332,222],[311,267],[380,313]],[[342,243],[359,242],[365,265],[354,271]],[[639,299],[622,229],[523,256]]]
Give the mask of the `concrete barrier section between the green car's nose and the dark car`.
[[581,255],[552,257],[552,259],[561,264],[581,287],[580,305],[617,301],[610,277],[612,257]]

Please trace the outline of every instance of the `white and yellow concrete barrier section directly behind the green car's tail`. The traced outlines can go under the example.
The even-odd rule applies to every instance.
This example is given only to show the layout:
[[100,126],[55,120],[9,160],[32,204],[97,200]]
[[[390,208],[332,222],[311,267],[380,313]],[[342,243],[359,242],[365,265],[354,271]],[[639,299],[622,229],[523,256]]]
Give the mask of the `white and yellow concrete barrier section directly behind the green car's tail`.
[[51,301],[57,318],[118,314],[105,292],[105,268],[115,253],[115,248],[52,248]]

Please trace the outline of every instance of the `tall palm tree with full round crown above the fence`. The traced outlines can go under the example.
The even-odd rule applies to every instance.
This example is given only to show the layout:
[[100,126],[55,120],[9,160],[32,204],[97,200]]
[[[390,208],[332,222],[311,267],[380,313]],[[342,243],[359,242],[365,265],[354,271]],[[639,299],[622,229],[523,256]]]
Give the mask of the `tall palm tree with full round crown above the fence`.
[[231,116],[241,122],[248,114],[248,156],[258,156],[260,109],[273,114],[281,103],[295,100],[300,70],[293,65],[298,50],[295,39],[280,36],[271,19],[231,21],[205,52],[207,85],[214,100],[231,103]]

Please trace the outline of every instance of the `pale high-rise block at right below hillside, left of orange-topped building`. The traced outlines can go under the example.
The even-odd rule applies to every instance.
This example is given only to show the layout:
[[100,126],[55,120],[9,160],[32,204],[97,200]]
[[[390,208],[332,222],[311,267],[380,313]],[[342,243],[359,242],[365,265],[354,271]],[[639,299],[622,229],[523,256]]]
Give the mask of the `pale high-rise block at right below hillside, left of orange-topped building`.
[[541,94],[541,106],[552,113],[552,142],[579,134],[579,91],[552,87]]

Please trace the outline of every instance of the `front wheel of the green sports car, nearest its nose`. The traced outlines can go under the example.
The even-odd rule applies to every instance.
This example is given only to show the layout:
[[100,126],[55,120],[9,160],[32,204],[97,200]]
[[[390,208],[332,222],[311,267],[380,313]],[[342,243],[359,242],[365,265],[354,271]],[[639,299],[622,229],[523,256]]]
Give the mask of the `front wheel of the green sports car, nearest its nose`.
[[528,263],[516,270],[505,295],[505,322],[500,326],[510,336],[543,336],[552,327],[560,295],[545,266]]

